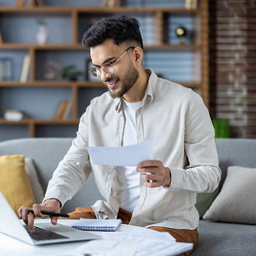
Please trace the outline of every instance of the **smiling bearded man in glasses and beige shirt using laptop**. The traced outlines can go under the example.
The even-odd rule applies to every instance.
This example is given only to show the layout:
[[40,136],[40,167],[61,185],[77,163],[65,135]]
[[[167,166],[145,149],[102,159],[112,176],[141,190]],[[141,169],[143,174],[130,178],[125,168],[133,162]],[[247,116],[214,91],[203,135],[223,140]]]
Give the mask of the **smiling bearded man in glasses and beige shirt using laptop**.
[[[212,192],[220,170],[208,110],[194,91],[144,69],[137,20],[101,19],[84,35],[93,68],[108,92],[91,101],[71,148],[55,170],[41,210],[60,212],[90,172],[105,201],[76,208],[71,218],[121,218],[124,223],[169,232],[197,243],[198,192]],[[150,139],[155,159],[137,168],[94,165],[87,146],[123,146]],[[34,215],[18,213],[33,230]],[[57,219],[52,217],[52,223]]]

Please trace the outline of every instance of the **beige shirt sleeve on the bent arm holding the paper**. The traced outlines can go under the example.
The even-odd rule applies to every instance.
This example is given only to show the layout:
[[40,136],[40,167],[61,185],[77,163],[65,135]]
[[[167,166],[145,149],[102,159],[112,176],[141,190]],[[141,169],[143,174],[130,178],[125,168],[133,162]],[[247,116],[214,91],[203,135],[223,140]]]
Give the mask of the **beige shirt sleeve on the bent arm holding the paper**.
[[212,192],[219,185],[221,170],[215,146],[215,132],[201,97],[191,91],[185,116],[184,148],[187,166],[169,167],[169,189],[195,193]]

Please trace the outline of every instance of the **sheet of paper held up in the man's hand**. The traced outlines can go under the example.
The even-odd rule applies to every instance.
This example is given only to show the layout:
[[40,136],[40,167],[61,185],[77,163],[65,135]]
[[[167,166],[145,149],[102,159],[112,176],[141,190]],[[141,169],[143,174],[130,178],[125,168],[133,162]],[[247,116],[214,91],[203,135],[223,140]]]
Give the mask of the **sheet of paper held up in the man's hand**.
[[136,166],[154,159],[151,140],[123,147],[87,147],[87,151],[95,165]]

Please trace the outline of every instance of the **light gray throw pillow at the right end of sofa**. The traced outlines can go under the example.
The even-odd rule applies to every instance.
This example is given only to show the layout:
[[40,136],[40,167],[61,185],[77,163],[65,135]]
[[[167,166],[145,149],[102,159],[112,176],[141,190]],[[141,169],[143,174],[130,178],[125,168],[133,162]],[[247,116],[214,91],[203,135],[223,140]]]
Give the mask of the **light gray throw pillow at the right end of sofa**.
[[256,224],[256,169],[229,166],[218,197],[203,219]]

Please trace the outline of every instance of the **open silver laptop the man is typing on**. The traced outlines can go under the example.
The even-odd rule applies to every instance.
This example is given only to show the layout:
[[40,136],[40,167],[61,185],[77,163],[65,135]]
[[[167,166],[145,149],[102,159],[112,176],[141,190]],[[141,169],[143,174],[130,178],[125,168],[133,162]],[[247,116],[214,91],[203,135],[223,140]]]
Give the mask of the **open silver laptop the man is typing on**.
[[27,226],[17,217],[8,201],[0,191],[0,233],[12,236],[27,244],[57,244],[81,240],[101,239],[101,236],[87,231],[73,229],[62,224],[52,225],[50,222],[37,223],[34,225],[35,233],[30,234]]

